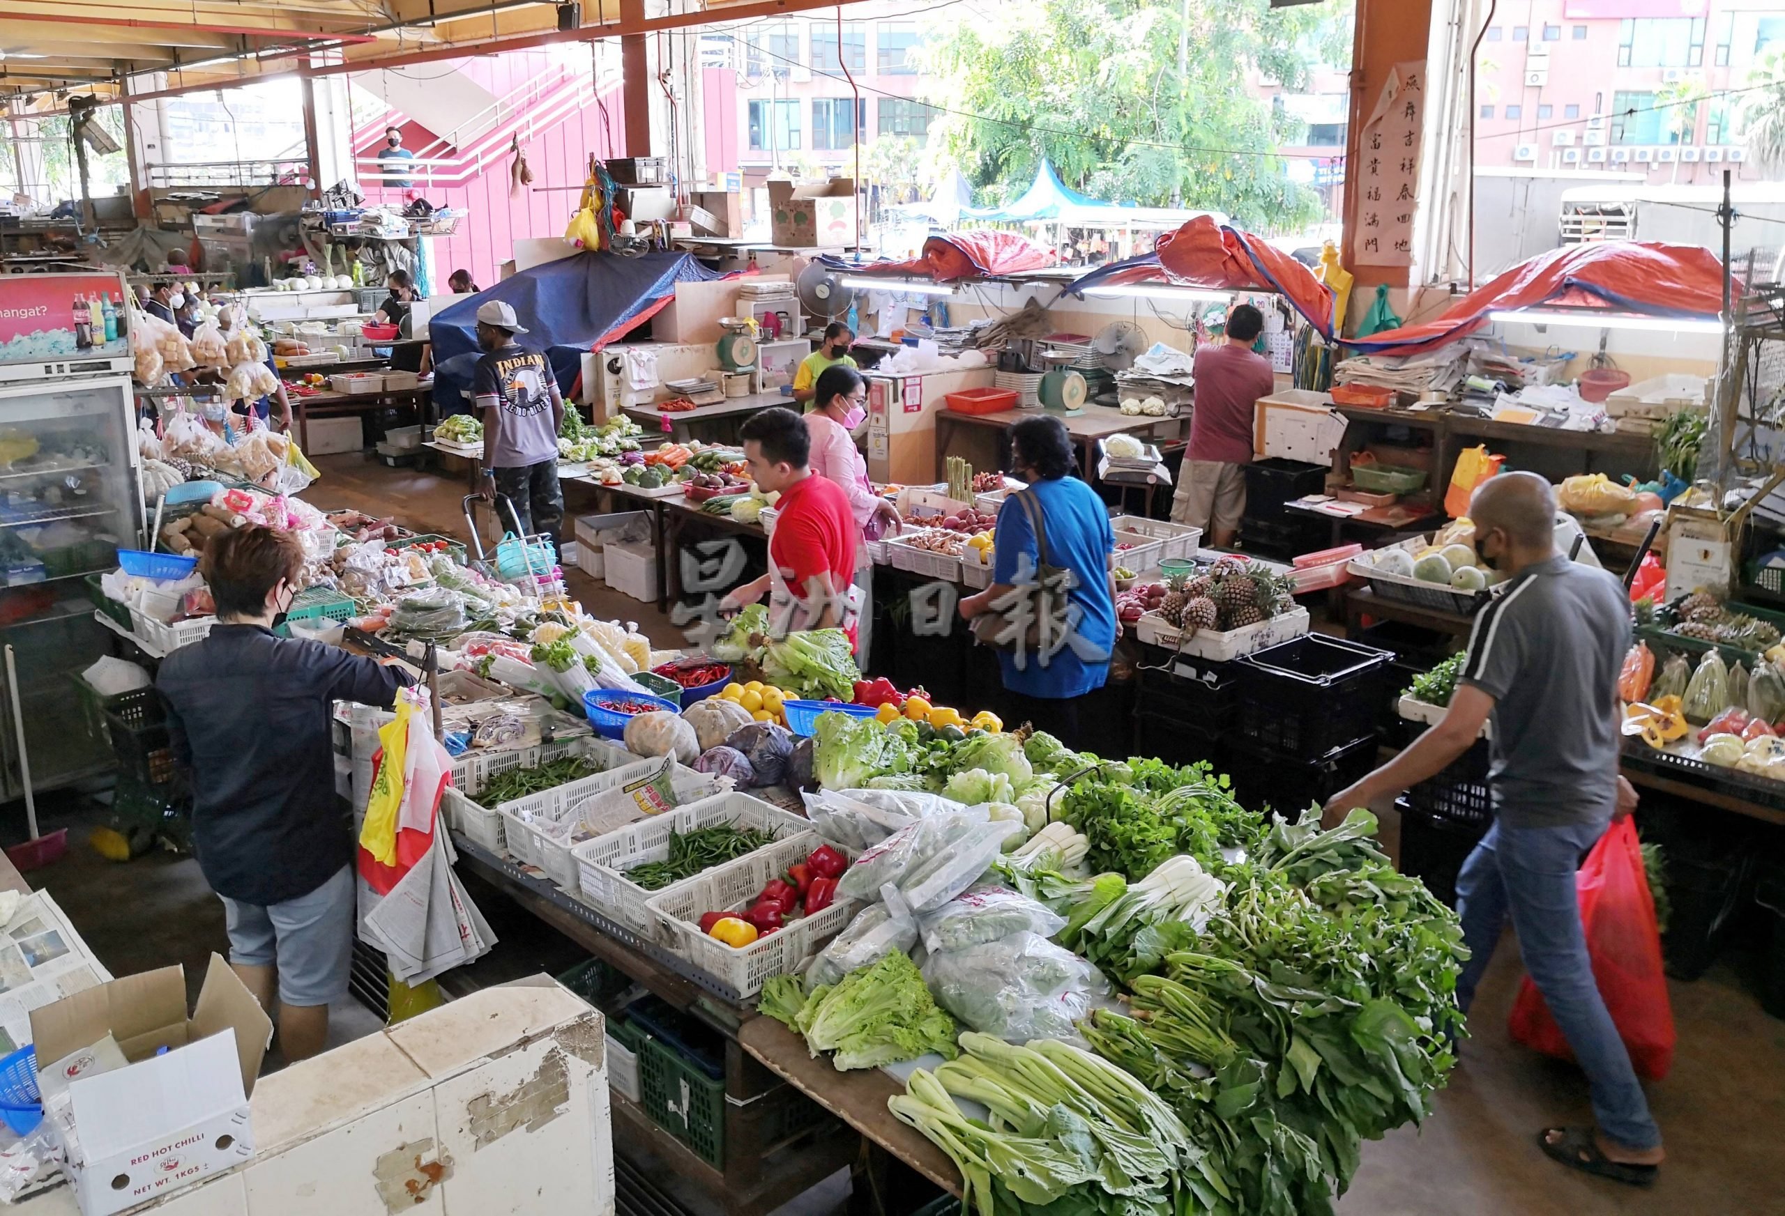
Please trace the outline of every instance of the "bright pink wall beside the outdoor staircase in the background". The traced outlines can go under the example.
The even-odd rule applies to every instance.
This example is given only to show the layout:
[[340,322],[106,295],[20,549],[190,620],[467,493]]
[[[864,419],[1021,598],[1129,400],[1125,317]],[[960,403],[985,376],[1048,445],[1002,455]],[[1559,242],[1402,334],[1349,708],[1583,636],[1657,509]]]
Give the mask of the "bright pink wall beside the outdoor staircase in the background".
[[[512,93],[528,78],[557,68],[559,59],[543,52],[516,52],[478,61],[478,77],[496,96]],[[443,82],[444,84],[444,82]],[[416,123],[403,125],[403,144],[419,148],[425,136]],[[589,157],[621,155],[625,116],[619,89],[598,102],[571,112],[550,130],[521,143],[527,164],[534,173],[532,185],[509,191],[509,162],[503,155],[491,162],[482,177],[455,187],[428,187],[419,191],[436,207],[462,207],[469,214],[459,221],[450,237],[432,237],[434,267],[439,276],[434,291],[446,289],[446,276],[455,269],[469,269],[480,287],[498,280],[498,267],[514,257],[514,242],[523,237],[559,237],[577,207],[577,189],[587,177]],[[369,203],[402,205],[402,191],[368,189]]]

